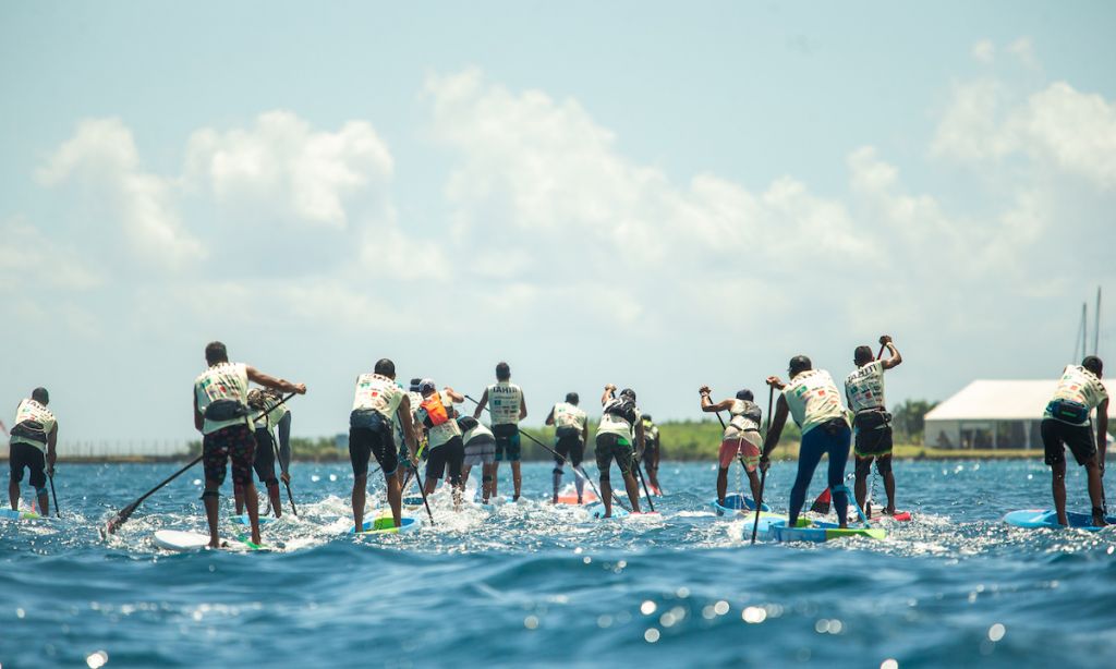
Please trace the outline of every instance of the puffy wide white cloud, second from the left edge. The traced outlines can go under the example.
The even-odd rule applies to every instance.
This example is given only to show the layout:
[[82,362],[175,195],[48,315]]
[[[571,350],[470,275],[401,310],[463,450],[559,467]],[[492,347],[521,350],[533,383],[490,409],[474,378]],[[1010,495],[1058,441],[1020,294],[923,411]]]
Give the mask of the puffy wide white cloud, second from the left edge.
[[372,124],[314,130],[290,112],[268,112],[249,129],[203,128],[186,147],[186,174],[238,213],[344,229],[346,202],[392,176],[387,145]]

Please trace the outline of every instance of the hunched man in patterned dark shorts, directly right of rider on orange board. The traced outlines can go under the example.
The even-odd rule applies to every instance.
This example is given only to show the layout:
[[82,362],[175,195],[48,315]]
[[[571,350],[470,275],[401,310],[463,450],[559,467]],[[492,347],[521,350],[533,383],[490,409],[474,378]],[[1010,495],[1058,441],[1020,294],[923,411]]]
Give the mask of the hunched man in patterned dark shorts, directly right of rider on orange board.
[[[616,397],[616,386],[608,384],[600,396],[600,424],[597,426],[597,468],[600,471],[600,501],[605,505],[605,517],[613,515],[613,485],[609,468],[615,459],[624,476],[624,487],[632,502],[633,513],[639,511],[639,485],[635,481],[633,467],[643,457],[644,434],[639,407],[635,404],[635,390],[625,388]],[[634,445],[633,445],[634,442]],[[634,448],[634,449],[633,449]]]

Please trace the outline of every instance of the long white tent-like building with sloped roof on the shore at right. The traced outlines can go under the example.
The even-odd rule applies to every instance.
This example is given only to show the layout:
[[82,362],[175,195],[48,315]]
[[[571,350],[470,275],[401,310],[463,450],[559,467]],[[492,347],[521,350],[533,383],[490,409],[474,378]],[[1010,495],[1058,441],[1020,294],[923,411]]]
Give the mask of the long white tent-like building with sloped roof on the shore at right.
[[[1116,382],[1105,380],[1109,397]],[[933,448],[1042,448],[1039,425],[1058,379],[979,379],[926,414],[926,446]],[[1116,400],[1108,419],[1116,419]]]

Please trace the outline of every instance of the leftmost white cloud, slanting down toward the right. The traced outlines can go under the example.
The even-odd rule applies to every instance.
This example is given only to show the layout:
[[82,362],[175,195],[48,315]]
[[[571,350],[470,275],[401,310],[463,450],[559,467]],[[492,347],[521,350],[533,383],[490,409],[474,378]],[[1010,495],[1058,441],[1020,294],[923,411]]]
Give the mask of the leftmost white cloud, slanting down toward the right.
[[205,256],[182,226],[173,185],[142,169],[132,132],[117,118],[79,123],[37,175],[50,186],[77,182],[89,191],[88,203],[107,202],[134,256],[153,266],[181,268]]

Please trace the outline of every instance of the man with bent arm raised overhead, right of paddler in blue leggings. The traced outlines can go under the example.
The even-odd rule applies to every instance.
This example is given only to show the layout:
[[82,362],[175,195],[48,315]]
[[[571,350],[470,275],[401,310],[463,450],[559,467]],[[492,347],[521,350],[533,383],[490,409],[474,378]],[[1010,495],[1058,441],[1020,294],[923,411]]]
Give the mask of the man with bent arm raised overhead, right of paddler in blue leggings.
[[887,495],[884,515],[889,516],[895,515],[895,476],[892,474],[892,415],[884,404],[884,371],[903,362],[903,356],[887,334],[879,337],[879,345],[886,346],[891,353],[886,360],[873,358],[868,346],[858,346],[853,351],[856,370],[845,379],[845,399],[853,410],[856,435],[856,484],[853,486],[856,503],[865,507],[872,460],[876,460],[876,471],[884,477]]

